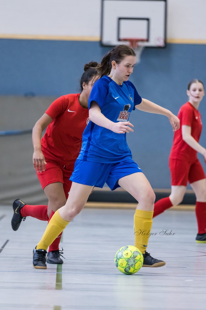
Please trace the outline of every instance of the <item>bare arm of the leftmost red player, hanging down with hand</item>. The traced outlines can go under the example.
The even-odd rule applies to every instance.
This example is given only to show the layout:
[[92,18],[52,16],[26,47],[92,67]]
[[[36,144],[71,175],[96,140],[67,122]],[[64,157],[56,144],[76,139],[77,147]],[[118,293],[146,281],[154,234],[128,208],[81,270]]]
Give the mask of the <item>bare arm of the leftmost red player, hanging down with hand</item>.
[[34,147],[33,153],[33,166],[39,172],[45,170],[45,158],[41,151],[41,134],[42,131],[52,122],[52,118],[44,113],[43,116],[36,122],[32,130],[32,143]]

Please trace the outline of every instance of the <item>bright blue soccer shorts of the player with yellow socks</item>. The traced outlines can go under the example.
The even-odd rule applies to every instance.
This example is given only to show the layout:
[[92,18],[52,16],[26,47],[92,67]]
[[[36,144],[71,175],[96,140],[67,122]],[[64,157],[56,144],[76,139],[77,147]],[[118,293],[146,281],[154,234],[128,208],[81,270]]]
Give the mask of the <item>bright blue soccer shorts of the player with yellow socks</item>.
[[77,159],[70,181],[103,188],[106,183],[113,191],[120,187],[119,179],[132,173],[142,172],[131,159],[114,163],[88,162]]

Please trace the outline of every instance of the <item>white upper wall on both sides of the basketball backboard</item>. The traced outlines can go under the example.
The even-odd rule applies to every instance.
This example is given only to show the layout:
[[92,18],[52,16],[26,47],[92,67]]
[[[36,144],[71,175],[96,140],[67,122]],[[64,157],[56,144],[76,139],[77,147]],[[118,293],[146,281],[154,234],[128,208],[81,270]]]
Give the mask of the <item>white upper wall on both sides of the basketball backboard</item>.
[[[206,0],[168,0],[167,4],[169,42],[206,42]],[[99,40],[100,14],[101,0],[0,0],[0,38],[27,35]]]

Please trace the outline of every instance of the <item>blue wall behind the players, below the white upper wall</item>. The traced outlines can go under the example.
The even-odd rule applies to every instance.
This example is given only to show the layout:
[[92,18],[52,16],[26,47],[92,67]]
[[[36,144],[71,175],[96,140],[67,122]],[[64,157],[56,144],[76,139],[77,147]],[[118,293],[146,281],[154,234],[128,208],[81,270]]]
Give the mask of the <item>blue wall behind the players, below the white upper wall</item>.
[[[79,91],[83,66],[100,61],[109,48],[99,42],[0,40],[0,94],[56,96]],[[143,98],[177,114],[187,101],[188,82],[198,78],[206,84],[205,45],[168,44],[149,48],[136,65],[131,82]],[[205,98],[200,104],[205,147]],[[170,188],[168,156],[173,132],[166,117],[135,111],[130,121],[135,132],[127,137],[133,158],[153,188]],[[203,159],[199,156],[202,164]]]

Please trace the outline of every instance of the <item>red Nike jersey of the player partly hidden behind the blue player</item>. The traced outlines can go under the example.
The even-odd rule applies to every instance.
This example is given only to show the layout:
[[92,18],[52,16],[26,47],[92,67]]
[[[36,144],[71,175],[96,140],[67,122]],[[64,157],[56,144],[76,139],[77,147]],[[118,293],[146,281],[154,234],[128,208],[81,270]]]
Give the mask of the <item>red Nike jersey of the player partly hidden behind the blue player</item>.
[[82,146],[83,131],[89,122],[89,109],[79,104],[79,95],[61,96],[45,112],[53,121],[41,139],[42,152],[60,165],[75,162]]

